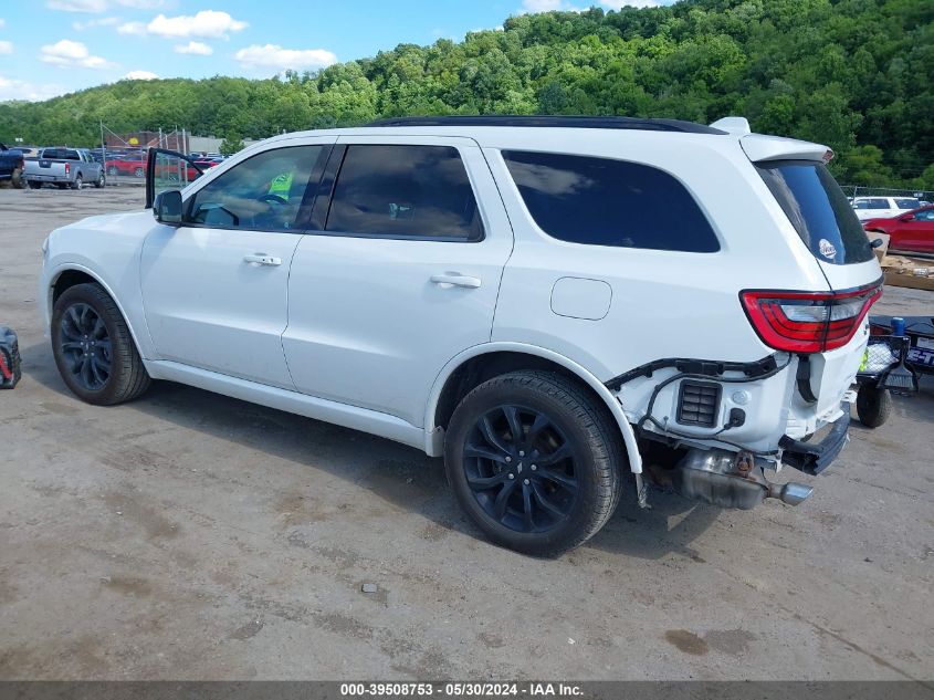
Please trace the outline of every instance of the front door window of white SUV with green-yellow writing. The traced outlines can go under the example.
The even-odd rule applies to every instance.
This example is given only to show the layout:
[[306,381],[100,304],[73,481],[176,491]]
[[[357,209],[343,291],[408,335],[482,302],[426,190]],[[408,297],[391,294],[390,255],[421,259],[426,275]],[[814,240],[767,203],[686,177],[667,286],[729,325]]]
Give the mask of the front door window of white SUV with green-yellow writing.
[[293,146],[253,156],[200,189],[186,221],[225,229],[301,229],[305,190],[327,152],[324,146]]

